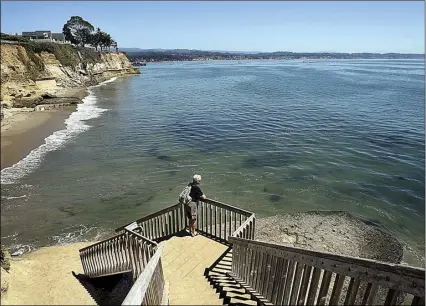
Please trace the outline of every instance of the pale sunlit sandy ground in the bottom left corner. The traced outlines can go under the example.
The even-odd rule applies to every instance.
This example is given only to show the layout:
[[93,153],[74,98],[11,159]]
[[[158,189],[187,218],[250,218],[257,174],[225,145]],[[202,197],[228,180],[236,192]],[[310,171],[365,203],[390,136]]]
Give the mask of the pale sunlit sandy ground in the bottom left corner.
[[41,248],[13,258],[10,271],[2,269],[7,291],[2,305],[94,305],[84,287],[72,275],[83,273],[78,250],[92,243]]

